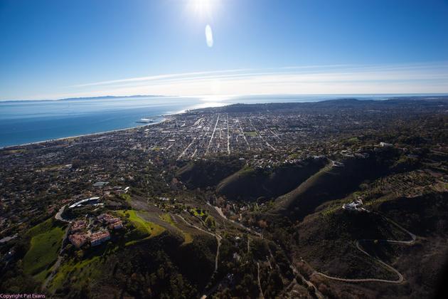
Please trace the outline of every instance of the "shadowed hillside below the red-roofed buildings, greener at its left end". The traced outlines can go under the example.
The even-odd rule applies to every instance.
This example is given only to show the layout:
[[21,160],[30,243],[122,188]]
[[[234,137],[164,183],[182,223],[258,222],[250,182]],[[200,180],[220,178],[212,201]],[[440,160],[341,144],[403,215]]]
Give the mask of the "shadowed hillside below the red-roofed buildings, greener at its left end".
[[[166,289],[170,289],[172,284],[186,288],[187,283],[198,283],[196,289],[201,290],[213,273],[214,243],[215,238],[200,236],[181,246],[181,240],[167,232],[139,240],[134,246],[117,248],[118,244],[107,243],[103,250],[97,247],[96,252],[90,252],[93,248],[85,251],[80,261],[78,258],[66,259],[48,287],[56,291],[58,298],[65,298],[67,293],[80,298],[86,294],[84,289],[87,285],[92,293],[87,295],[89,298],[105,295],[112,298],[123,290],[135,298],[142,298],[144,295],[139,293],[140,290],[149,289],[158,298],[162,291],[171,293],[172,290]],[[199,272],[198,267],[201,268]],[[146,279],[135,280],[134,277]],[[176,291],[182,288],[176,288]],[[197,296],[187,298],[194,297]]]

